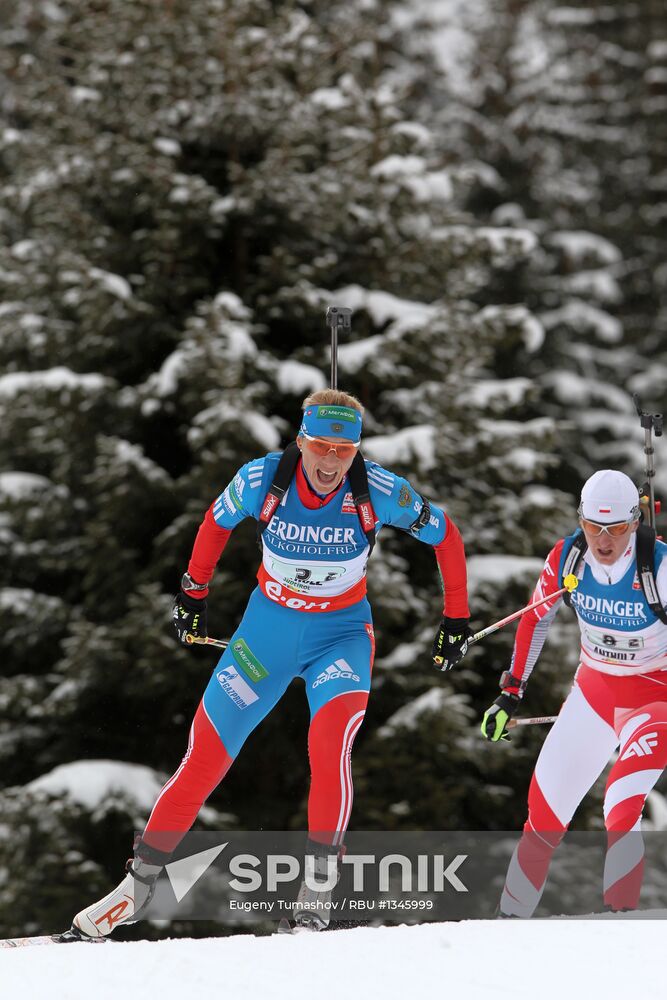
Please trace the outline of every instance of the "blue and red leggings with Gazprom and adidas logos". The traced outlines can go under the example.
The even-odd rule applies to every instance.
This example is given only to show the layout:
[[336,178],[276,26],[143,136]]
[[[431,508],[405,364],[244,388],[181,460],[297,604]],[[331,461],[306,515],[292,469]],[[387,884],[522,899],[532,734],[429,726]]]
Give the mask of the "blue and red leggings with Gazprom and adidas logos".
[[256,589],[204,692],[180,767],[143,833],[173,850],[231,767],[245,740],[295,677],[310,708],[308,830],[342,843],[352,810],[351,753],[370,691],[375,651],[366,599],[330,612],[304,612]]

